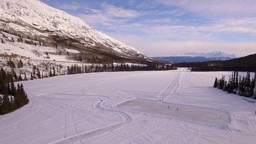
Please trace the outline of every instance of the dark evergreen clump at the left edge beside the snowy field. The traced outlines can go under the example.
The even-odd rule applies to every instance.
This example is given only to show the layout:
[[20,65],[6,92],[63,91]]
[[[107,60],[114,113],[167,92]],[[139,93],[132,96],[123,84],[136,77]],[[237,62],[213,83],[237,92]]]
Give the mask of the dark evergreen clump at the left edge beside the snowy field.
[[23,84],[14,84],[12,72],[0,70],[0,115],[8,114],[28,104],[28,96]]

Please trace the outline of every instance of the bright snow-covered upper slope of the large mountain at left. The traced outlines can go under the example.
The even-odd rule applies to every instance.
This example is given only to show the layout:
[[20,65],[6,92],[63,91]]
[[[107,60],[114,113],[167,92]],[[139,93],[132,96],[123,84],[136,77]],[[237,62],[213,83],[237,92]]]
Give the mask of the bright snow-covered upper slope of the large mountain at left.
[[120,56],[148,58],[135,48],[98,32],[83,20],[39,0],[0,0],[0,21],[2,28],[30,36],[47,39],[51,34],[58,34]]

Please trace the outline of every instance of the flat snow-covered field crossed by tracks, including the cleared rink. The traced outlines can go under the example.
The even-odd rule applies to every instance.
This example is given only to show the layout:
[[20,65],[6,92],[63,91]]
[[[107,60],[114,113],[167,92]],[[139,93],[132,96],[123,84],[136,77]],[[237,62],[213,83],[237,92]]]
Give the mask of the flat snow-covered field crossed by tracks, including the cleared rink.
[[26,81],[30,103],[0,116],[0,143],[254,144],[256,104],[213,88],[222,74],[232,72],[103,72]]

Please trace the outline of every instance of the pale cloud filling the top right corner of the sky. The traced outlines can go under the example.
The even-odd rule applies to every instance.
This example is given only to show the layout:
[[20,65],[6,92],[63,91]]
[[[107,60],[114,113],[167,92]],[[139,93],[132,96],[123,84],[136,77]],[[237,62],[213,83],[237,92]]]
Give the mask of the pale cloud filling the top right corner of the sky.
[[256,14],[255,0],[156,0],[213,19],[246,18]]

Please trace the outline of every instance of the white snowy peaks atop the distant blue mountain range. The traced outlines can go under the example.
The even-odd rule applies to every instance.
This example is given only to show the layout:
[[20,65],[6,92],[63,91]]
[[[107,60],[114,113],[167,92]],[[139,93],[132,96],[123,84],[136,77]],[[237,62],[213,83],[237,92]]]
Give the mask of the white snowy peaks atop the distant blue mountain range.
[[196,53],[196,52],[190,52],[186,54],[173,54],[171,56],[190,56],[190,57],[205,57],[205,58],[220,58],[220,57],[230,57],[230,58],[238,58],[235,54],[227,54],[225,52],[221,51],[214,51],[214,52],[208,52],[208,53]]

